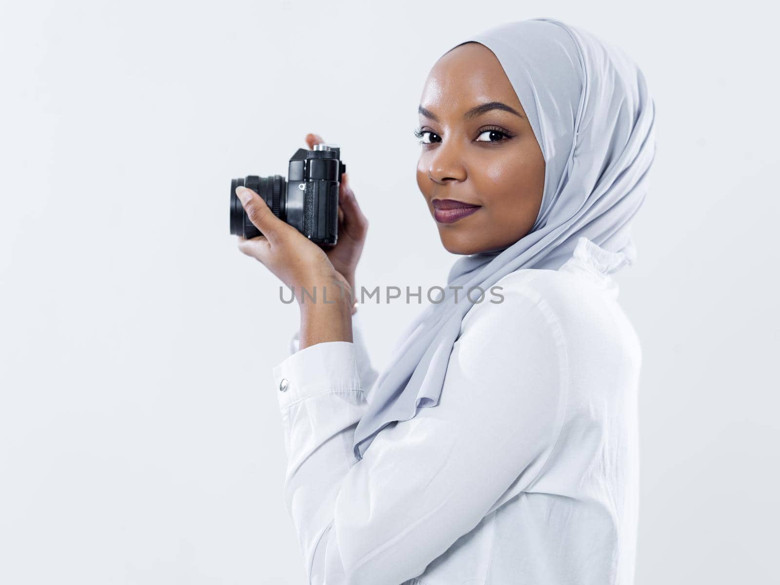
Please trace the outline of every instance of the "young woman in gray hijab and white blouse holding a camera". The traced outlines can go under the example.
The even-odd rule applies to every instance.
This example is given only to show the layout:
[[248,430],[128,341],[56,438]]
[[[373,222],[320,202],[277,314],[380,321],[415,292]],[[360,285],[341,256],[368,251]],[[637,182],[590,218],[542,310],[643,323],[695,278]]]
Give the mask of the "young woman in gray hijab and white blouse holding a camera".
[[339,295],[367,232],[349,179],[328,251],[238,193],[265,234],[240,250],[299,303],[337,300],[300,303],[274,369],[309,582],[632,583],[640,346],[612,273],[654,158],[644,76],[585,30],[525,20],[442,55],[419,112],[417,183],[463,257],[379,375]]

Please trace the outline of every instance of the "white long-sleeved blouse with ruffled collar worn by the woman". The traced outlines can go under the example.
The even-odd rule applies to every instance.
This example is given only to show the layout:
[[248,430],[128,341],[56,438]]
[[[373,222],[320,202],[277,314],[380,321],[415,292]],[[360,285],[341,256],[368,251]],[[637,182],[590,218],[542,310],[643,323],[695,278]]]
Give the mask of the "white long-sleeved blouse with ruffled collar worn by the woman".
[[438,406],[389,424],[356,461],[371,401],[354,342],[274,368],[285,502],[314,585],[633,583],[640,345],[581,238],[557,271],[506,275],[463,319]]

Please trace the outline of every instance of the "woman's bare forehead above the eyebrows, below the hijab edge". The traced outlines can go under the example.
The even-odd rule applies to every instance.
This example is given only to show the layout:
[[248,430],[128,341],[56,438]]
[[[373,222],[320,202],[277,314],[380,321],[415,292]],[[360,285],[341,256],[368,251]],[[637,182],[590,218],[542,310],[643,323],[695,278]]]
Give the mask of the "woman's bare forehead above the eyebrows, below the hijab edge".
[[487,101],[519,108],[512,83],[498,58],[484,44],[466,43],[452,49],[428,73],[420,105],[466,110]]

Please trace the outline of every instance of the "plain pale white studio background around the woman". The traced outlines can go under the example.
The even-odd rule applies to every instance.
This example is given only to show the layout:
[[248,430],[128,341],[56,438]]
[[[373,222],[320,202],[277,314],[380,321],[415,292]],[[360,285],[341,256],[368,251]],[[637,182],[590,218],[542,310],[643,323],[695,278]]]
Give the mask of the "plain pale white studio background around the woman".
[[[271,367],[297,310],[228,233],[229,179],[342,146],[358,285],[441,285],[417,190],[427,72],[551,16],[624,48],[658,107],[638,264],[636,583],[766,583],[778,522],[778,55],[759,4],[5,2],[0,582],[304,581]],[[381,367],[420,307],[361,308]],[[501,584],[504,585],[504,584]]]

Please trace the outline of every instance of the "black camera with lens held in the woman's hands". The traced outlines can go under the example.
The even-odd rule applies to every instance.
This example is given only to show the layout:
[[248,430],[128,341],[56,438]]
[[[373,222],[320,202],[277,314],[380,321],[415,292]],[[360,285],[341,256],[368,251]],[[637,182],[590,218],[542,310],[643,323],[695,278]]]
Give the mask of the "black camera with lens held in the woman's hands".
[[246,176],[230,182],[230,233],[262,236],[246,216],[236,197],[236,187],[245,186],[263,198],[274,215],[289,223],[317,244],[335,244],[339,238],[339,183],[346,165],[335,144],[315,144],[314,150],[299,148],[290,158],[287,179],[280,175]]

